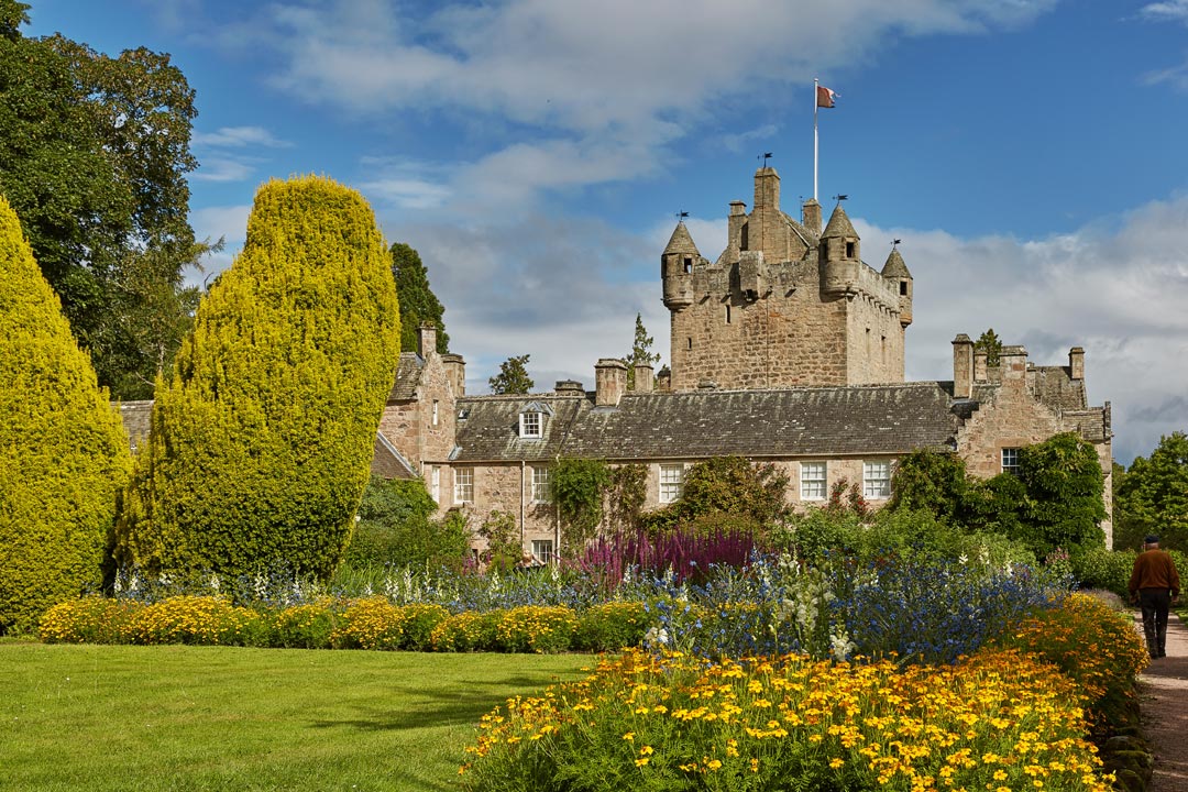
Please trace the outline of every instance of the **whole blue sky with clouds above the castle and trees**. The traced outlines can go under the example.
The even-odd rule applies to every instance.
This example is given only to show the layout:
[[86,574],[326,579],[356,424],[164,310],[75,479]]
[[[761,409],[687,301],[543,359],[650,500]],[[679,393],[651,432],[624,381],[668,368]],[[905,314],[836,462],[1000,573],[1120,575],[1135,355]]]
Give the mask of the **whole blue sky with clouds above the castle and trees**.
[[331,176],[421,252],[468,392],[525,353],[592,386],[637,312],[666,360],[675,214],[715,258],[772,152],[795,216],[820,77],[822,203],[915,278],[909,379],[993,327],[1038,365],[1085,347],[1119,461],[1188,429],[1188,0],[32,5],[26,34],[169,52],[197,91],[208,273],[263,180]]

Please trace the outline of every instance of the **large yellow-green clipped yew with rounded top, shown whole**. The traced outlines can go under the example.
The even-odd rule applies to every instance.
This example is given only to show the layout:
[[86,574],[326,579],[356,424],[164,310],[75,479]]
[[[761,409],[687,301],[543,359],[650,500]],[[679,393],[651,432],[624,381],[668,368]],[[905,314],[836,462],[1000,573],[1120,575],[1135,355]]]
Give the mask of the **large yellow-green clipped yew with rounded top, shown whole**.
[[118,559],[329,577],[398,356],[396,287],[362,197],[314,177],[261,186],[242,253],[158,387]]

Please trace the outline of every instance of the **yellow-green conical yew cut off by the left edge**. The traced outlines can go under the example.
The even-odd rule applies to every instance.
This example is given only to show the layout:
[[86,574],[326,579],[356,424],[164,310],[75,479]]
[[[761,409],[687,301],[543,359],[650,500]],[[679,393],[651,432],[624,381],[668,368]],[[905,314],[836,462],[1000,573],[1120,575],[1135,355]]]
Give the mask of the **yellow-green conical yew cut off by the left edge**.
[[0,197],[0,633],[100,583],[127,437]]

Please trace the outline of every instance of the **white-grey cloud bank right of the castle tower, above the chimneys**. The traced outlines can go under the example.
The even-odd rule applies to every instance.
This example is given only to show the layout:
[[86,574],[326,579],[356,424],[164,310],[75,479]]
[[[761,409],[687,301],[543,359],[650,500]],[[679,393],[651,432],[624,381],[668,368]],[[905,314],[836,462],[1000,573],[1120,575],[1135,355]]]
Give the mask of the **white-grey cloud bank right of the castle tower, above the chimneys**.
[[1112,403],[1120,461],[1188,429],[1188,197],[1031,241],[854,226],[876,267],[881,240],[903,239],[915,279],[909,379],[952,379],[953,337],[993,328],[1041,366],[1085,348],[1089,400]]

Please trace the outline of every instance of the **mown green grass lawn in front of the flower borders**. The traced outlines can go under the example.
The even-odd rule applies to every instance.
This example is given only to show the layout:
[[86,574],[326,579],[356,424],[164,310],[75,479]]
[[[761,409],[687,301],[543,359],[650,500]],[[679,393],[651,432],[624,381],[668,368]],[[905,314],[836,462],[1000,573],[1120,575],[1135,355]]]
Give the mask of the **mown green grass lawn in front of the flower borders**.
[[453,790],[479,717],[593,664],[0,644],[0,790]]

